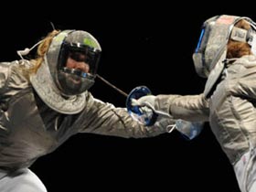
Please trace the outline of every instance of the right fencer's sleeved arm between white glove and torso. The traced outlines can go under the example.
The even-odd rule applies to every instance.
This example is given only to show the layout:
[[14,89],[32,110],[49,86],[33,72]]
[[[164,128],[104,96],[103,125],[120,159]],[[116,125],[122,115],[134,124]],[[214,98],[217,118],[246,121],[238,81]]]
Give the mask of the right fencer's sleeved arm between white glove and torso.
[[174,119],[190,122],[208,122],[208,101],[199,95],[157,95],[155,109],[168,112]]

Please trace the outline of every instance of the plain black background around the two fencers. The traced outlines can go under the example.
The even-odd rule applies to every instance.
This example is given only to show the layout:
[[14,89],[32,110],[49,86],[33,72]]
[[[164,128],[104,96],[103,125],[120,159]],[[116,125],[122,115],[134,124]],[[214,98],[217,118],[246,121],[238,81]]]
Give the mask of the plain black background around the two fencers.
[[[197,77],[192,54],[202,23],[221,14],[253,20],[256,14],[250,5],[193,4],[190,9],[183,1],[16,5],[18,11],[10,8],[8,15],[0,15],[0,59],[19,59],[16,50],[32,47],[52,30],[52,22],[57,29],[82,29],[96,37],[102,48],[99,74],[127,93],[146,85],[154,94],[197,94],[205,80]],[[125,105],[125,97],[99,79],[91,92],[115,106]],[[78,134],[31,169],[49,192],[239,192],[232,166],[208,124],[193,141],[176,132],[146,139]]]

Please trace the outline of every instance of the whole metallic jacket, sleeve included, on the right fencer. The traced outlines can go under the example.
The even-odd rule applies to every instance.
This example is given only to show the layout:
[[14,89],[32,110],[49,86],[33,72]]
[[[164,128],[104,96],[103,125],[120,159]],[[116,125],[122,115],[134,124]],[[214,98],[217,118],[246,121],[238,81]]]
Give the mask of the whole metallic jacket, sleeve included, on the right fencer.
[[235,164],[256,147],[256,57],[244,56],[224,70],[208,100],[200,95],[158,95],[155,108],[176,119],[208,121],[220,146]]

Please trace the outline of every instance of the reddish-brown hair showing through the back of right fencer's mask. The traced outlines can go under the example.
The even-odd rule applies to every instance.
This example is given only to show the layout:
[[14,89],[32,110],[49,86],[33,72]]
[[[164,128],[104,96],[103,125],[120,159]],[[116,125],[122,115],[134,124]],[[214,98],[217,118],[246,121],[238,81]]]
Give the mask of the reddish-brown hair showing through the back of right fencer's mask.
[[[251,26],[248,21],[241,19],[235,27],[243,28],[243,29],[250,29]],[[245,42],[239,42],[235,40],[229,39],[228,45],[227,45],[227,59],[232,58],[240,58],[244,55],[251,55],[251,47],[248,43]]]

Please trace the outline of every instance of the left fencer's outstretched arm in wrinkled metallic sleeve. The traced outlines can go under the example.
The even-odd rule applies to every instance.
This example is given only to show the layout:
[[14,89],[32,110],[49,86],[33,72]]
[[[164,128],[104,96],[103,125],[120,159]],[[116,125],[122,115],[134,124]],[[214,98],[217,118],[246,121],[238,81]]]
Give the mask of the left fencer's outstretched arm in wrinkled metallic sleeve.
[[80,114],[80,133],[98,133],[120,137],[152,137],[169,131],[169,125],[174,125],[175,120],[168,118],[156,122],[153,126],[145,126],[135,121],[126,108],[116,108],[111,103],[106,103],[87,96],[87,106]]

